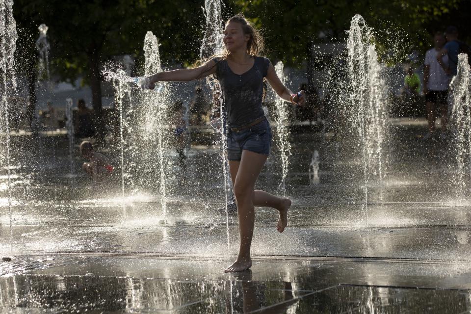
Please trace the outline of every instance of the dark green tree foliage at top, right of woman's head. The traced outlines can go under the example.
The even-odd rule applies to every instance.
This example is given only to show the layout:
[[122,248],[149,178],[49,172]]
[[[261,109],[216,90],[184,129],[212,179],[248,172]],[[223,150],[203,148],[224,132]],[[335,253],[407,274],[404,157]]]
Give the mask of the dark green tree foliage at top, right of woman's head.
[[[361,14],[376,41],[394,61],[424,52],[431,34],[457,26],[469,39],[469,0],[234,0],[234,6],[265,30],[271,57],[300,65],[311,43],[343,41],[351,18]],[[459,17],[459,18],[458,18]],[[392,54],[391,54],[392,52]]]

